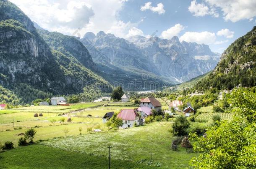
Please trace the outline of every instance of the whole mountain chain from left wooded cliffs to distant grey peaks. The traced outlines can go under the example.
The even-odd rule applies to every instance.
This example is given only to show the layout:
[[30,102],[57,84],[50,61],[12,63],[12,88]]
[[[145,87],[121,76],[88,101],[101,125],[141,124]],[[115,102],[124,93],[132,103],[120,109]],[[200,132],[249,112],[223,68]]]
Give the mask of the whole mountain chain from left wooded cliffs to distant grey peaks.
[[80,39],[49,32],[13,3],[0,1],[0,85],[15,95],[8,102],[79,93],[93,99],[115,86],[155,89],[211,71],[218,56],[208,45],[180,43],[178,37],[124,39],[100,31]]

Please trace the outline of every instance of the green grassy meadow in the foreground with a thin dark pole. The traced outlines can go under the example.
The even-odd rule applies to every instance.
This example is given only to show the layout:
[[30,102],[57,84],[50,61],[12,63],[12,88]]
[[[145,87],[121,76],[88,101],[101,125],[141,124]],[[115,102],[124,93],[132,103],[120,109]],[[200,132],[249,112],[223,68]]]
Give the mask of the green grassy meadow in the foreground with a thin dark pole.
[[[111,146],[112,168],[187,168],[188,161],[197,153],[188,153],[180,147],[179,151],[170,150],[171,126],[172,122],[154,122],[131,129],[54,138],[0,153],[0,166],[107,168],[107,147]],[[153,163],[148,165],[151,153]]]

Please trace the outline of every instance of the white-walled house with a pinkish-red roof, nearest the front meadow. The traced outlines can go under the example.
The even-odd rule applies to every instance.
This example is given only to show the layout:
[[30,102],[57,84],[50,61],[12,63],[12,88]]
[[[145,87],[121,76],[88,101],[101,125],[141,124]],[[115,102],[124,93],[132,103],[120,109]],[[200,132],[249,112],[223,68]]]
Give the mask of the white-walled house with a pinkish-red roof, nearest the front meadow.
[[122,128],[133,127],[135,123],[140,124],[139,116],[133,109],[123,109],[117,117],[123,120]]

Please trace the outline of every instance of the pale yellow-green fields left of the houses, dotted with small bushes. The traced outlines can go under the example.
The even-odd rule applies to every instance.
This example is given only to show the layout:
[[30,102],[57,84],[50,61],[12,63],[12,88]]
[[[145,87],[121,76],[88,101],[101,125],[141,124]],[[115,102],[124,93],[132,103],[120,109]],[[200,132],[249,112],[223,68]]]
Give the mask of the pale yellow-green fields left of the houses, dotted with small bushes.
[[[0,114],[0,142],[13,141],[17,146],[21,134],[31,127],[37,127],[35,141],[65,136],[64,129],[68,129],[68,136],[79,135],[78,129],[80,127],[83,134],[88,133],[88,127],[104,131],[107,130],[102,122],[102,116],[105,113],[109,111],[118,112],[124,108],[136,108],[125,106],[125,103],[121,102],[116,104],[123,106],[104,107],[101,106],[102,102],[100,102],[79,103],[71,106],[31,106],[2,110],[2,114]],[[34,117],[35,113],[42,113],[43,116]],[[69,117],[72,119],[71,122],[67,122]],[[63,118],[64,124],[60,123]]]

